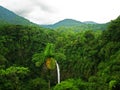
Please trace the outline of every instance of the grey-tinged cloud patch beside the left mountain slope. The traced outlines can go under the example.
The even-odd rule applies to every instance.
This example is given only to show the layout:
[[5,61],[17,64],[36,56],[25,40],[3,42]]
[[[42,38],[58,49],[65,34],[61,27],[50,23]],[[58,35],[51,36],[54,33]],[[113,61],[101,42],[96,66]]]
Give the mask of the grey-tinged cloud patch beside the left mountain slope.
[[[29,3],[26,1],[26,4],[22,4],[22,6],[18,5],[17,9],[14,10],[18,15],[21,16],[29,16],[31,13],[36,12],[44,12],[44,13],[54,13],[52,7],[42,3],[39,0],[29,0]],[[36,12],[35,12],[36,11]]]

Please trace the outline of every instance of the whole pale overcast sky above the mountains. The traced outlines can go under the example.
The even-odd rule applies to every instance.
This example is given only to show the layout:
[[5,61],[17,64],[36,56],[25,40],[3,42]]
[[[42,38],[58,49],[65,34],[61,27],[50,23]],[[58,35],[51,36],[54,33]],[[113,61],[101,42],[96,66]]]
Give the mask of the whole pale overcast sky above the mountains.
[[0,0],[0,5],[38,24],[66,18],[106,23],[120,15],[120,0]]

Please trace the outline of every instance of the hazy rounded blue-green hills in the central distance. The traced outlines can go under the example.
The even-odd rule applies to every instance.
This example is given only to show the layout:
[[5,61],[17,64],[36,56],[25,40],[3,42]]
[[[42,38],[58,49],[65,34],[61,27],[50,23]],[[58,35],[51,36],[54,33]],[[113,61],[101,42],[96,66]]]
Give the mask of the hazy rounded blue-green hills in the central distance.
[[82,30],[105,30],[107,28],[107,24],[98,24],[93,21],[85,21],[80,22],[73,19],[64,19],[52,25],[41,25],[45,28],[57,29],[59,31],[82,31]]

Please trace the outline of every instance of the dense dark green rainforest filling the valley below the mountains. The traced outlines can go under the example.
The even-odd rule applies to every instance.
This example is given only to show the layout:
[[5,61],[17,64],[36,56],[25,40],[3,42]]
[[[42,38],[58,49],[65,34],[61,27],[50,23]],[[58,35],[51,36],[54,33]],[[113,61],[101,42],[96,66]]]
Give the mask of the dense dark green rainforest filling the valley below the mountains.
[[0,90],[120,90],[120,16],[106,30],[67,31],[2,24]]

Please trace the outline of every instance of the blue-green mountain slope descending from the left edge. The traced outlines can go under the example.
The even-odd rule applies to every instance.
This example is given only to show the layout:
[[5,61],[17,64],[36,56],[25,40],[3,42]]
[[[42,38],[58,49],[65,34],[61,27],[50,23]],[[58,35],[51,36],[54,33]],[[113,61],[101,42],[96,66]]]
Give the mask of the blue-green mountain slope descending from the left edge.
[[0,24],[18,24],[18,25],[30,25],[33,24],[29,20],[16,15],[12,11],[0,6]]

